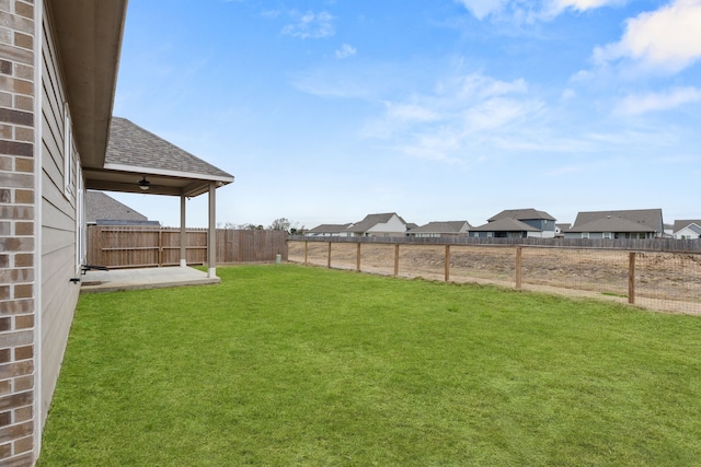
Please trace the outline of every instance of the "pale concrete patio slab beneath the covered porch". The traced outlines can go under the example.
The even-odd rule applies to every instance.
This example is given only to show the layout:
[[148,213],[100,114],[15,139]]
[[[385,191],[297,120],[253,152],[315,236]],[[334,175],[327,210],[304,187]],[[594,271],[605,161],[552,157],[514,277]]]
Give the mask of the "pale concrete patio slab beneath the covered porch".
[[208,285],[221,279],[208,278],[206,272],[189,267],[113,269],[87,271],[81,276],[80,293],[114,292],[118,290],[160,289],[182,285]]

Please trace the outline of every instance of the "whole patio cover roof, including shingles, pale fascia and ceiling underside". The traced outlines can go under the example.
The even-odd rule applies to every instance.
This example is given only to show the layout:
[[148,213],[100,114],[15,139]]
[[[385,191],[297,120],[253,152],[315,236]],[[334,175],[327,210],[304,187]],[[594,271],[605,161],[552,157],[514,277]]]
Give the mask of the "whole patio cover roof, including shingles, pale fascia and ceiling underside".
[[165,141],[126,118],[113,117],[104,168],[83,171],[91,189],[143,192],[138,182],[146,176],[148,192],[197,196],[209,183],[223,186],[233,176]]

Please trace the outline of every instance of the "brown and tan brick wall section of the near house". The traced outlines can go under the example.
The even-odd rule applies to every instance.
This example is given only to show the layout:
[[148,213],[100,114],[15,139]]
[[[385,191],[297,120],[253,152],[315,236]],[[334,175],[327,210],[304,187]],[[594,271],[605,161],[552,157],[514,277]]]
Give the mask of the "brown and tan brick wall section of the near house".
[[0,0],[0,465],[34,460],[34,1]]

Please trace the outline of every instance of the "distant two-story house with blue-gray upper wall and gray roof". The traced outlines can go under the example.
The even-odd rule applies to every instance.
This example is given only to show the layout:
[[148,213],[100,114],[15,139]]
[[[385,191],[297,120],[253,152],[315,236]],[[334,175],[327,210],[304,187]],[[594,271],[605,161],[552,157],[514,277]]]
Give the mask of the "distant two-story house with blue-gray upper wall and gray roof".
[[470,236],[482,238],[552,238],[555,218],[536,209],[508,209],[487,219],[487,223],[470,229]]

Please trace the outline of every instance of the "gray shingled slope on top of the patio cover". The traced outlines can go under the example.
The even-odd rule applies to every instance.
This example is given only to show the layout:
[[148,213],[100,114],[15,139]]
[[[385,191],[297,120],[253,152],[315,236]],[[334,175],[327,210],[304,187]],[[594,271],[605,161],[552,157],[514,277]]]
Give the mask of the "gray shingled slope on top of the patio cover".
[[112,117],[105,167],[110,164],[233,178],[225,171],[120,117]]

